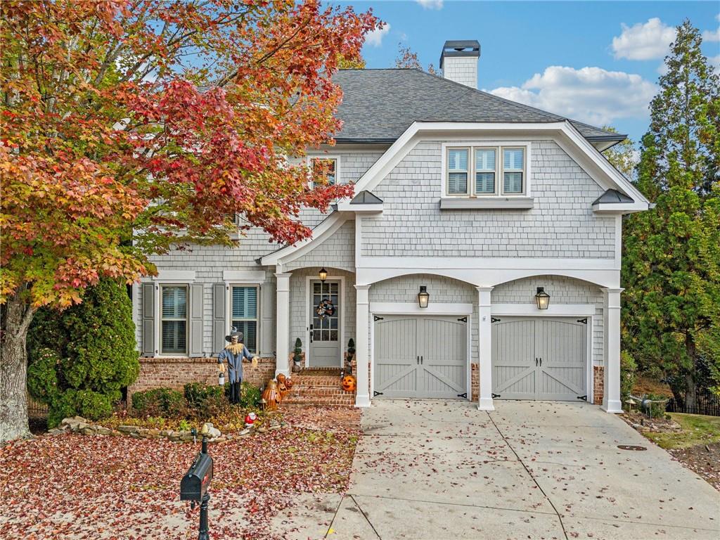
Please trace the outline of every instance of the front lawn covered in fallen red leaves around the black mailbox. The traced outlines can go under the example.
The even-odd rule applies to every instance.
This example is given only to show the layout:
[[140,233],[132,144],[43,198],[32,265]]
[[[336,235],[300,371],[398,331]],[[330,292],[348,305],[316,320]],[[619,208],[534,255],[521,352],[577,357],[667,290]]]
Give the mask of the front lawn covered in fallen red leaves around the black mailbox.
[[[288,426],[211,444],[214,538],[278,536],[268,523],[301,492],[348,487],[359,413],[293,409]],[[0,527],[23,539],[194,539],[179,486],[199,444],[126,436],[40,436],[0,451]]]

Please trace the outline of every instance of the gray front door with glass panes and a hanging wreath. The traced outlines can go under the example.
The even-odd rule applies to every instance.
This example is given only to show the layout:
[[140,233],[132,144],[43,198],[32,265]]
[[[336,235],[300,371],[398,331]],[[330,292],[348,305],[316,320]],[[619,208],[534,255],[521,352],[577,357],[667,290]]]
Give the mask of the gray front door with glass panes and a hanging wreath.
[[310,366],[341,366],[340,303],[339,281],[310,282]]

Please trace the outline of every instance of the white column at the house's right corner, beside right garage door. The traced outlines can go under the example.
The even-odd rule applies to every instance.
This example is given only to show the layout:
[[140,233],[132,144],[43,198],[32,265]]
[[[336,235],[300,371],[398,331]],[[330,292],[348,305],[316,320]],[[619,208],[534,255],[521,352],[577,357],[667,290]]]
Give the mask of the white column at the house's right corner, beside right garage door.
[[603,289],[605,363],[605,391],[601,408],[606,413],[622,413],[620,401],[620,293],[625,289]]

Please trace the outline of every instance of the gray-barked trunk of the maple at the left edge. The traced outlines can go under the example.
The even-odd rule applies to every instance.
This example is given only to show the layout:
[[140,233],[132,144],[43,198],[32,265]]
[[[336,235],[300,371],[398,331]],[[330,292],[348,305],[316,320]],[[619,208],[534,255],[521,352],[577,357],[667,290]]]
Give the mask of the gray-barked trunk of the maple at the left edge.
[[27,354],[25,340],[35,308],[20,294],[3,306],[0,353],[0,444],[30,437],[27,423]]

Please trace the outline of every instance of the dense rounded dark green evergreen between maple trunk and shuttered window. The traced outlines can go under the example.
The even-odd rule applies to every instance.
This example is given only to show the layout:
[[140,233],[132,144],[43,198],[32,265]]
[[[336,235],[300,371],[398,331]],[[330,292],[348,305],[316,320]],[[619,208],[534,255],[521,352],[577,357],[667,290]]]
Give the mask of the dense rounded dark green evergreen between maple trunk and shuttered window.
[[27,341],[28,388],[48,405],[50,427],[76,414],[109,415],[140,371],[130,297],[114,279],[101,279],[63,312],[38,310]]

